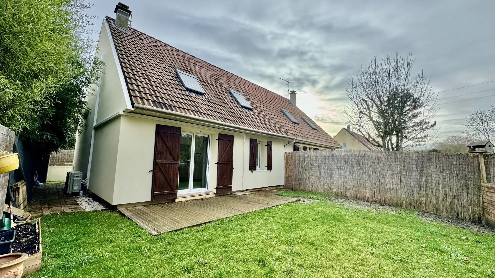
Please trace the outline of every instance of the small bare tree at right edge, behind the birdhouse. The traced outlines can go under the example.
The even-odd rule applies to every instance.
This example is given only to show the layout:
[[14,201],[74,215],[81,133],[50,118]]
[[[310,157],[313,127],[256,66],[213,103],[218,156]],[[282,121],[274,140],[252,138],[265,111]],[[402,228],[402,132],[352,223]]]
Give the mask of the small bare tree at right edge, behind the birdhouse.
[[466,135],[478,140],[490,140],[495,135],[495,107],[478,110],[466,118]]

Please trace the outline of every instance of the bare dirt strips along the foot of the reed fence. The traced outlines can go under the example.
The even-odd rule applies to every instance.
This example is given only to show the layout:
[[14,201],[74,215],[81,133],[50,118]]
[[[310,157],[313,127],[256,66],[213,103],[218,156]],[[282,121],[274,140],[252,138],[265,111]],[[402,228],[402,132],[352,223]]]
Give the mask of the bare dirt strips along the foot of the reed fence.
[[[362,201],[362,200],[356,200],[356,199],[350,199],[350,198],[338,197],[338,196],[329,197],[328,201],[336,205],[348,207],[351,209],[367,209],[374,212],[385,211],[396,214],[399,210],[401,210],[401,208],[397,208],[394,206],[388,206],[374,202],[368,202],[368,201]],[[451,225],[462,229],[468,229],[475,232],[489,232],[495,234],[495,230],[486,226],[485,224],[468,222],[459,218],[451,218],[451,217],[446,217],[446,216],[441,216],[441,215],[428,213],[428,212],[421,212],[421,211],[418,211],[418,216],[422,220],[428,222],[440,222],[446,225]]]

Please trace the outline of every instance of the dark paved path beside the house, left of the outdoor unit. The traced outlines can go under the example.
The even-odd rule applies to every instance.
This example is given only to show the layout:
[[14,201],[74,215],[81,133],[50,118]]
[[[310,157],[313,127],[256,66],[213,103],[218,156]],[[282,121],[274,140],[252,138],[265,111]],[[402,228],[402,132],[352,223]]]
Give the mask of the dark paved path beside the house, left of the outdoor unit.
[[33,216],[52,213],[84,211],[72,195],[63,193],[63,183],[43,184],[34,192],[28,210]]

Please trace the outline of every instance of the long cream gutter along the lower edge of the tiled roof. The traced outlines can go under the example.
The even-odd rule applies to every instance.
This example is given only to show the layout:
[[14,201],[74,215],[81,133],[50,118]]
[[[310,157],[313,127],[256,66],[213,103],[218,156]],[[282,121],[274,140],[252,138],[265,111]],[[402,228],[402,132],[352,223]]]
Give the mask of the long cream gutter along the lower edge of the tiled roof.
[[[202,118],[202,117],[198,117],[198,116],[194,116],[194,115],[189,115],[189,114],[185,114],[185,113],[166,110],[166,109],[162,109],[162,108],[156,108],[156,107],[143,105],[143,104],[139,104],[139,103],[134,104],[134,108],[135,109],[139,108],[139,109],[143,109],[143,110],[150,110],[150,111],[154,111],[154,112],[157,112],[160,114],[166,114],[166,115],[169,115],[170,117],[175,117],[175,118],[192,119],[192,120],[195,120],[197,122],[203,122],[203,123],[206,123],[206,124],[209,124],[212,126],[223,128],[223,129],[233,129],[234,131],[241,130],[241,131],[244,131],[246,133],[260,134],[260,135],[265,135],[265,136],[269,136],[269,137],[273,137],[273,138],[284,138],[284,139],[291,139],[291,140],[293,139],[294,141],[299,141],[302,143],[312,144],[312,145],[316,145],[316,146],[323,146],[323,147],[328,147],[328,148],[339,148],[339,149],[342,148],[342,146],[340,146],[340,145],[338,145],[338,146],[337,145],[331,145],[331,144],[311,141],[311,140],[307,140],[307,139],[300,139],[300,138],[296,138],[294,136],[281,135],[281,134],[276,134],[273,132],[251,129],[251,128],[247,128],[247,127],[243,127],[243,126],[228,124],[228,123],[224,123],[224,122],[220,122],[220,121],[216,121],[216,120],[211,120],[211,119]],[[134,112],[138,113],[137,110],[134,110]]]

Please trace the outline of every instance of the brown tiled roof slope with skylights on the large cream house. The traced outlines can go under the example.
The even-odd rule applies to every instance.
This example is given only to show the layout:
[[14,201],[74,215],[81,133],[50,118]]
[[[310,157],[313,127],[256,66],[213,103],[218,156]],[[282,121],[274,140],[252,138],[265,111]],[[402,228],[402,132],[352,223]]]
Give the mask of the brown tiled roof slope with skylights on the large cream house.
[[[136,103],[284,136],[340,146],[288,98],[156,40],[136,29],[126,33],[106,18],[133,105]],[[186,91],[176,70],[196,76],[205,94]],[[242,93],[253,109],[242,108],[229,93]],[[288,110],[294,124],[281,109]],[[308,117],[309,118],[309,117]]]

